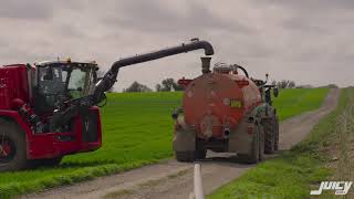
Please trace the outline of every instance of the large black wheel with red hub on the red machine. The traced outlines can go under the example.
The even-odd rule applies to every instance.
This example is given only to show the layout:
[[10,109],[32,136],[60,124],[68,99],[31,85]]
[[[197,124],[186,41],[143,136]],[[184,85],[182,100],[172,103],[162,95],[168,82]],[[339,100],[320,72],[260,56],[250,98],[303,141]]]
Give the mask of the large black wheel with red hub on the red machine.
[[14,123],[0,119],[0,171],[21,170],[29,166],[24,133]]

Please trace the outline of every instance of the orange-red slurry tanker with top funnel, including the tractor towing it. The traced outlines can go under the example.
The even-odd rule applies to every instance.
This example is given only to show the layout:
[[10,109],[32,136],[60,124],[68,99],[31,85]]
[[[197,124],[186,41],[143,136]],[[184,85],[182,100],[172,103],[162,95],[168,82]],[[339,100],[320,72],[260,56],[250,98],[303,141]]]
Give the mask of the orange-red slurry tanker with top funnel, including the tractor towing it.
[[200,76],[178,81],[185,92],[183,106],[173,113],[176,159],[204,159],[209,149],[237,153],[242,161],[256,164],[278,150],[279,119],[271,100],[278,88],[267,85],[268,74],[266,81],[251,78],[237,64],[216,64],[211,72],[210,60],[201,57]]

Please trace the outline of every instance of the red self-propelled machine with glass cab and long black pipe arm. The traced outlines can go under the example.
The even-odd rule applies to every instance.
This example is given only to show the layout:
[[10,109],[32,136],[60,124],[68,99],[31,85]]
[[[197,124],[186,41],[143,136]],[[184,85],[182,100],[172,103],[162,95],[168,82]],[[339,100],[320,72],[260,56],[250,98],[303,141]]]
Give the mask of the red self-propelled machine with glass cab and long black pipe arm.
[[56,165],[65,155],[102,145],[98,105],[126,65],[212,45],[192,40],[178,46],[122,59],[97,78],[96,63],[54,61],[0,67],[0,171]]

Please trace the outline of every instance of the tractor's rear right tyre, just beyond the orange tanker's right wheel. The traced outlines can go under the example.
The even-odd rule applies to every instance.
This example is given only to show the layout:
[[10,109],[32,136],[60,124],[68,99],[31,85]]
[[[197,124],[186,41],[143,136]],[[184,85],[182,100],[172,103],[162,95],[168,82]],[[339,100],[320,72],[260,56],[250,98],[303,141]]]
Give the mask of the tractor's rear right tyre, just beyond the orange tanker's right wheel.
[[274,154],[275,150],[275,119],[263,119],[264,153]]

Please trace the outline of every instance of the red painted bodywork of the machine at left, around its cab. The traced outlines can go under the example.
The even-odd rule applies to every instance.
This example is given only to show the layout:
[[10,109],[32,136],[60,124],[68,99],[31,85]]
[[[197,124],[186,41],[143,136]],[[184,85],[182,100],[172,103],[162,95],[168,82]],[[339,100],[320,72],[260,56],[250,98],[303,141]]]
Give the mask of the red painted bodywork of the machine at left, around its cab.
[[[14,100],[22,100],[24,103],[31,104],[29,70],[35,69],[30,69],[24,64],[0,67],[0,117],[10,118],[21,127],[25,134],[28,158],[53,158],[98,149],[102,146],[102,126],[100,108],[96,106],[90,108],[96,115],[97,139],[95,142],[83,140],[84,125],[79,115],[74,121],[73,132],[37,134],[32,132],[13,105]],[[72,140],[61,140],[60,136],[72,136],[74,138]]]

